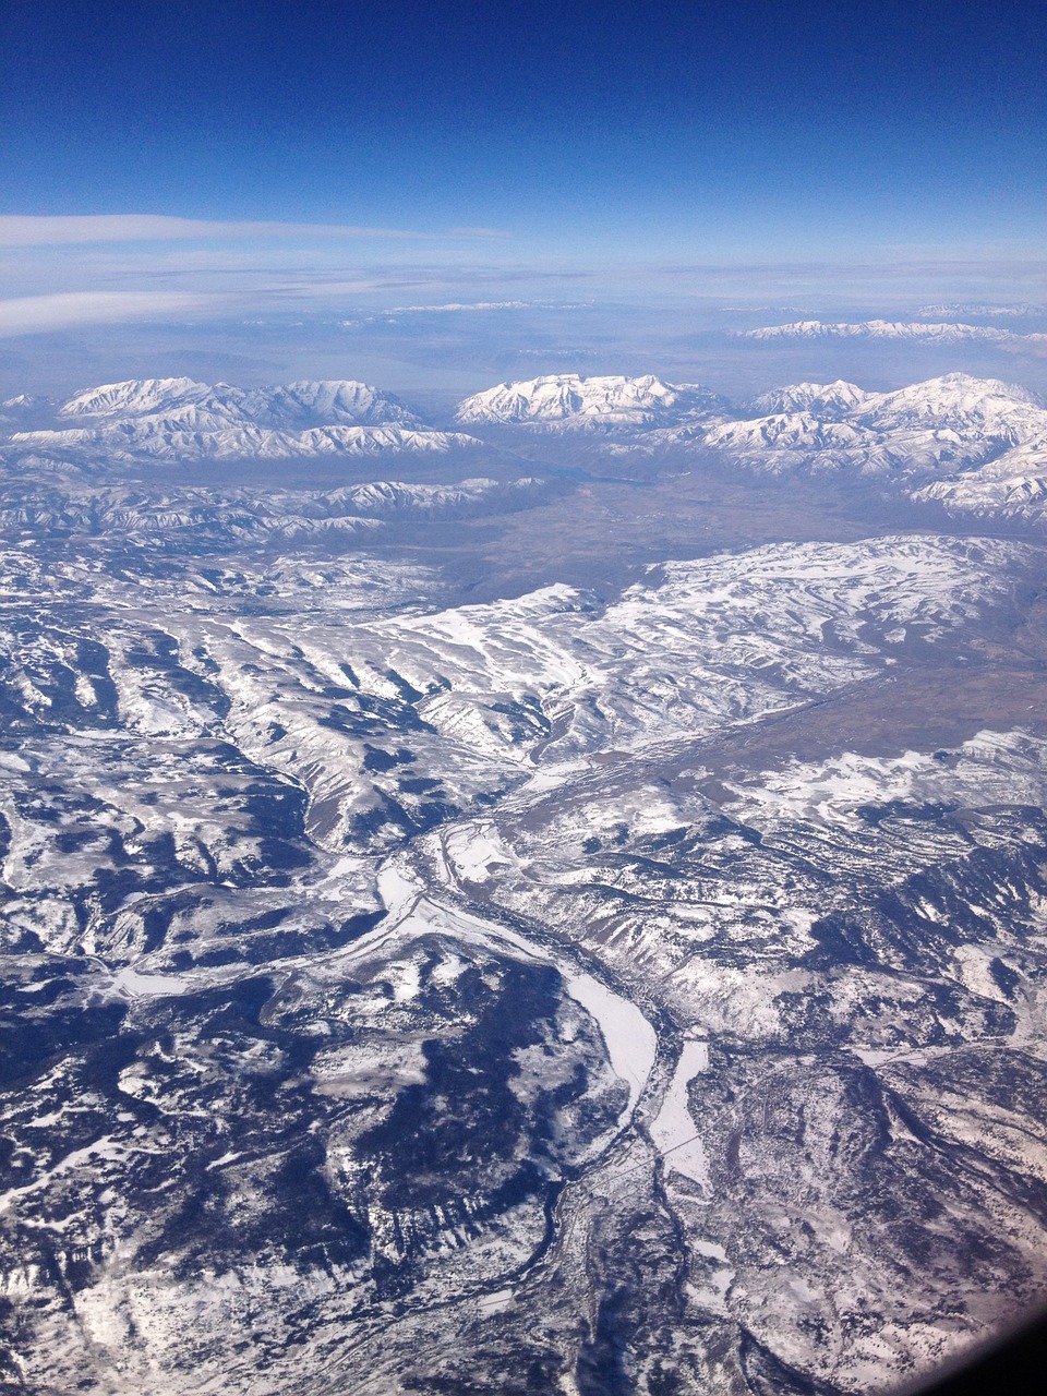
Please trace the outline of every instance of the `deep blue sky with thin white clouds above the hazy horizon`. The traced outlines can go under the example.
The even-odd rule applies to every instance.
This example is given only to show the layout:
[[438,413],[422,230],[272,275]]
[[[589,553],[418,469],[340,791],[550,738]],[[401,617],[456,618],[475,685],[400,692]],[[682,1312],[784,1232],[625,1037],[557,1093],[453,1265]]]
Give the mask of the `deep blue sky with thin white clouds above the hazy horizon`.
[[[917,264],[931,293],[942,265],[981,262],[1002,299],[1043,285],[1037,4],[4,14],[0,295],[27,303],[15,324],[40,296],[46,320],[56,296],[81,314],[84,296],[187,310],[381,296],[398,276],[504,293],[599,271],[658,295],[674,268],[690,292],[704,267],[826,262],[826,285],[874,267],[886,286],[892,264]],[[99,222],[45,222],[84,216]]]

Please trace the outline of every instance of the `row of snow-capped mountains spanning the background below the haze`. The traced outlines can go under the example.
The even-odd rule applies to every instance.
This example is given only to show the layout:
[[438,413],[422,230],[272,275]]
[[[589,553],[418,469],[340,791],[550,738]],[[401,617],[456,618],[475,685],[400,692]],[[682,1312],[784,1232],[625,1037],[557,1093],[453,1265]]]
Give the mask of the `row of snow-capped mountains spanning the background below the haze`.
[[[773,332],[898,329],[870,325],[804,321]],[[875,477],[953,512],[1047,519],[1047,408],[995,378],[951,373],[888,392],[799,383],[732,403],[649,374],[547,374],[473,394],[455,420],[470,431],[426,426],[394,395],[350,380],[236,388],[147,378],[61,403],[28,395],[0,403],[0,461],[34,475],[149,461],[366,459],[475,451],[486,429],[494,448],[512,431],[581,433],[613,456],[712,452],[747,473]]]

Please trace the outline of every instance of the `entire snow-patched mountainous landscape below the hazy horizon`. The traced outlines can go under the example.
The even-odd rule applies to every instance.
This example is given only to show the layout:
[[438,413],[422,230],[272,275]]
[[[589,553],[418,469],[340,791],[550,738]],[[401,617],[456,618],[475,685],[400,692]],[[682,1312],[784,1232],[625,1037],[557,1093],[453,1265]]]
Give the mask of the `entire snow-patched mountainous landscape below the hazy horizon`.
[[4,1390],[859,1396],[1047,1302],[1043,307],[466,311],[322,355],[468,395],[0,403]]

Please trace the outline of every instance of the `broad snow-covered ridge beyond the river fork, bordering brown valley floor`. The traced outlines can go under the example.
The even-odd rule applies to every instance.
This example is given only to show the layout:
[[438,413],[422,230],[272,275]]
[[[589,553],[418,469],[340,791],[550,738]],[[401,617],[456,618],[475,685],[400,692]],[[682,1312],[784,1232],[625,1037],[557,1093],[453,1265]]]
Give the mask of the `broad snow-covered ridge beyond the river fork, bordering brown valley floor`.
[[[852,683],[874,655],[864,637],[909,627],[933,642],[1002,596],[995,578],[1012,546],[772,544],[669,563],[604,610],[550,586],[384,621],[367,644],[426,695],[419,711],[443,734],[503,759],[570,761],[709,732]],[[357,666],[359,681],[374,683],[377,667]],[[540,712],[547,727],[530,737],[510,729],[490,706],[500,695],[519,722]]]

